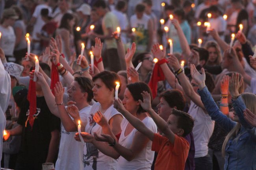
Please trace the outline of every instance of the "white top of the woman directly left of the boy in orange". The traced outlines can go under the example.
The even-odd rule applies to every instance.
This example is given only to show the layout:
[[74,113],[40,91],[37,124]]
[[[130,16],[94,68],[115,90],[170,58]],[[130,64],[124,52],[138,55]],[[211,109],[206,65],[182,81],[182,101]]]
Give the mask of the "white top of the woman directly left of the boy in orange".
[[[155,122],[151,117],[145,117],[142,121],[150,130],[157,133],[157,127]],[[123,119],[121,123],[121,135],[118,143],[125,148],[130,148],[132,146],[132,141],[135,134],[138,132],[137,129],[133,129],[127,136],[124,136],[124,132],[128,125],[127,119]],[[120,156],[117,162],[118,170],[151,170],[151,165],[154,159],[154,151],[151,150],[152,141],[148,141],[147,146],[132,160],[127,161],[124,157]]]

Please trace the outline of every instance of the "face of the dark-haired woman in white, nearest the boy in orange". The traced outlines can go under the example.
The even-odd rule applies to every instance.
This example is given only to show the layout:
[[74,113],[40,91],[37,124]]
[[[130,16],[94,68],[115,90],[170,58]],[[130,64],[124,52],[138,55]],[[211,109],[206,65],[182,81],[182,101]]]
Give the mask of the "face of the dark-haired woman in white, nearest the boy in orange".
[[122,100],[124,108],[130,113],[136,113],[139,108],[139,101],[135,101],[128,88],[124,91],[124,99]]

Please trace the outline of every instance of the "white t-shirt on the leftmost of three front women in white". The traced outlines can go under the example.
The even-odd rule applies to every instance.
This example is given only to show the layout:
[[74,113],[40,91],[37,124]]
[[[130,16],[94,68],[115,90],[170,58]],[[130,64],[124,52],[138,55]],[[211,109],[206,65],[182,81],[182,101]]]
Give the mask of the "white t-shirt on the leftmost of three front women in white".
[[[79,111],[83,124],[87,123],[90,110],[91,106],[87,106]],[[61,139],[55,170],[83,170],[83,144],[74,139],[75,134],[76,132],[67,132],[61,123]]]

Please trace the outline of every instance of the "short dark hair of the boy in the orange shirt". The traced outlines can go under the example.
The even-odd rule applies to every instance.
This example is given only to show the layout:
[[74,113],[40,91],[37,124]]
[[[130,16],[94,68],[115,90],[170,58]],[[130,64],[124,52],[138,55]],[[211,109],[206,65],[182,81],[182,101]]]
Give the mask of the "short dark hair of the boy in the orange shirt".
[[176,109],[173,109],[171,115],[175,115],[176,117],[178,117],[177,128],[181,128],[184,130],[184,133],[182,134],[183,137],[192,132],[194,126],[194,119],[191,117],[191,115]]

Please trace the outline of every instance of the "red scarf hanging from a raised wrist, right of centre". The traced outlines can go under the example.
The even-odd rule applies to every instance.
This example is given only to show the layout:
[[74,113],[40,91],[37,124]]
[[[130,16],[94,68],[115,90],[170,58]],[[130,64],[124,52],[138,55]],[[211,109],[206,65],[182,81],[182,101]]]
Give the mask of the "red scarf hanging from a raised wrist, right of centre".
[[152,91],[153,99],[157,95],[158,82],[165,80],[165,75],[163,74],[163,70],[161,69],[161,66],[160,66],[161,64],[163,64],[165,62],[167,62],[167,60],[165,58],[163,58],[155,64],[151,79],[148,82],[148,86],[150,87],[150,89]]

